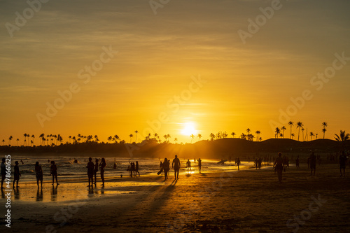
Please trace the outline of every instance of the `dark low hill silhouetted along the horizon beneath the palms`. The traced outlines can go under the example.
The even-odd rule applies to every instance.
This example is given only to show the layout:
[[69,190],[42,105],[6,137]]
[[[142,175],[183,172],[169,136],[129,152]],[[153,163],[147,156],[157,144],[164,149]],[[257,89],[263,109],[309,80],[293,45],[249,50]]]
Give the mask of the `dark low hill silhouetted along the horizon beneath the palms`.
[[154,143],[78,143],[60,146],[0,146],[0,152],[13,155],[59,155],[59,156],[92,156],[92,157],[168,157],[179,155],[186,158],[221,159],[230,155],[264,153],[333,153],[349,150],[350,141],[339,142],[330,139],[314,141],[295,141],[291,139],[267,139],[265,141],[247,141],[244,139],[218,139],[199,141],[193,144]]

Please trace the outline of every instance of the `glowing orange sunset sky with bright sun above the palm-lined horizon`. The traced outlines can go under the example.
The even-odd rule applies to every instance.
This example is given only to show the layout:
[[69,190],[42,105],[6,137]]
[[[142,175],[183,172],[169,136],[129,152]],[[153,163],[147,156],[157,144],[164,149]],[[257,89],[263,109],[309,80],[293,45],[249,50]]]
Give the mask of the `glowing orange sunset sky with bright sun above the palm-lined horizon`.
[[[32,2],[0,2],[1,141],[129,142],[138,130],[138,141],[157,132],[186,143],[186,125],[202,139],[250,128],[265,140],[281,125],[289,137],[286,117],[318,138],[324,121],[328,139],[350,132],[350,1]],[[60,109],[49,116],[48,104]]]

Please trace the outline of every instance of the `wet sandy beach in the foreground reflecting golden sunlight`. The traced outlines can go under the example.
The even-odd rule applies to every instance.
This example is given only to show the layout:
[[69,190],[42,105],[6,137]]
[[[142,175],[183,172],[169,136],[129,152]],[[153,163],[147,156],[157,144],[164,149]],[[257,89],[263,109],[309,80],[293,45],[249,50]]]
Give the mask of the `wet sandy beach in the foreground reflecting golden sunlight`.
[[[241,171],[181,172],[108,178],[104,188],[87,180],[61,181],[43,190],[20,183],[12,192],[11,227],[1,232],[349,232],[350,174],[322,164],[283,172],[272,167]],[[347,169],[349,171],[349,169]]]

